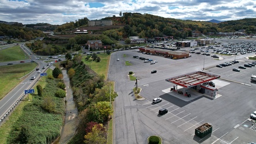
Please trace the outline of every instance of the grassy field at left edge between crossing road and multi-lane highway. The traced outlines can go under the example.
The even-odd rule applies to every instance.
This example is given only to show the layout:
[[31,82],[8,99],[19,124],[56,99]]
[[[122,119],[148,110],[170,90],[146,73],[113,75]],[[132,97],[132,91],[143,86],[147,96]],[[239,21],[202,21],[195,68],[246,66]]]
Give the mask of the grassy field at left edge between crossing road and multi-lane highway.
[[0,67],[0,100],[6,96],[21,80],[18,78],[31,72],[37,66],[36,63],[22,63]]

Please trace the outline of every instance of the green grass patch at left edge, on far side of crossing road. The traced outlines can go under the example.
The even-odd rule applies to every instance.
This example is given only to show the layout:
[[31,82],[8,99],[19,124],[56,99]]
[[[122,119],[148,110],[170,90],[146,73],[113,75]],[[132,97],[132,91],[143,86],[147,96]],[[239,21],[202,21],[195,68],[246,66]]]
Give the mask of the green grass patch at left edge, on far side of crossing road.
[[0,52],[0,62],[28,59],[28,55],[21,50],[20,46],[5,48]]

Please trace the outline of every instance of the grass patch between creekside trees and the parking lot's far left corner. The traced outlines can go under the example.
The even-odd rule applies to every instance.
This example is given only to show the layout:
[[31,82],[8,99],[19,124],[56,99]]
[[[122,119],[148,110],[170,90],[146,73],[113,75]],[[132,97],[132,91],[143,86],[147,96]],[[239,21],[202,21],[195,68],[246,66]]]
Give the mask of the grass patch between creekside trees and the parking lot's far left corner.
[[96,60],[93,61],[92,59],[85,60],[86,56],[82,56],[82,60],[84,61],[85,65],[90,66],[91,69],[95,71],[97,74],[105,75],[105,79],[107,79],[108,64],[110,63],[110,55],[97,54],[97,56],[100,57],[100,62],[97,62]]

